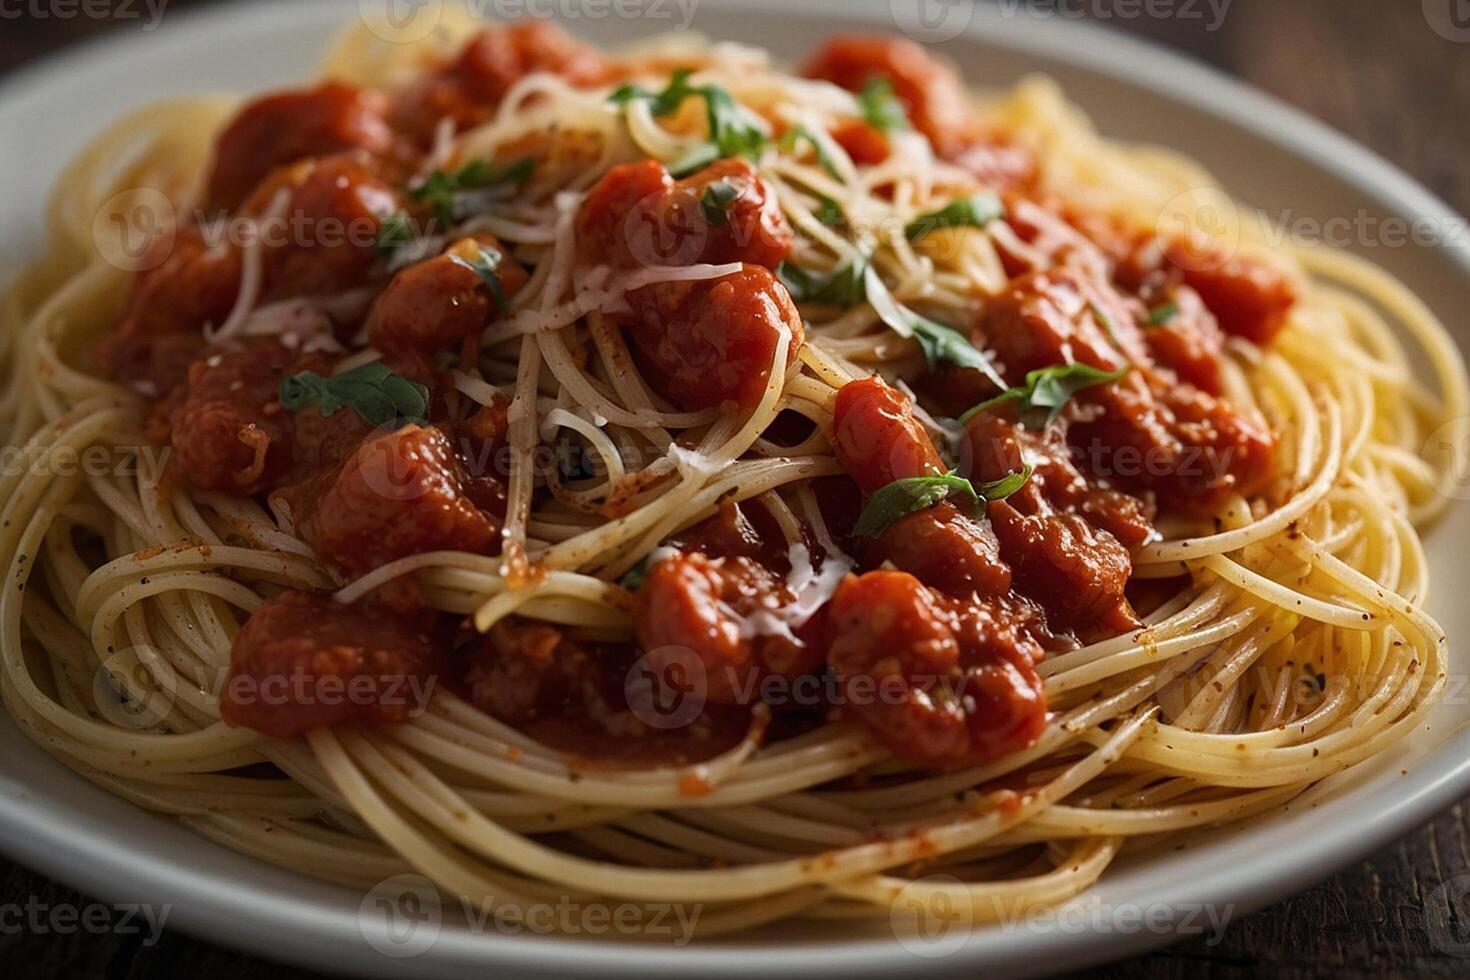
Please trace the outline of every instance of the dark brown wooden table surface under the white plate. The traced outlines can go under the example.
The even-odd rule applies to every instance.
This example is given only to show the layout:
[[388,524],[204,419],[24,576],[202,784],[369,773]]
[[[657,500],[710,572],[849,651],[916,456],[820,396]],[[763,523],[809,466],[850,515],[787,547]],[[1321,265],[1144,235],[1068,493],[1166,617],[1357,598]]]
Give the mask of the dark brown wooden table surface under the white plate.
[[[171,0],[163,25],[172,13],[206,1]],[[1035,0],[1035,6],[1091,16],[1211,62],[1377,150],[1457,212],[1470,213],[1467,0]],[[141,26],[134,19],[47,13],[66,9],[76,6],[0,3],[0,73],[81,38]],[[43,16],[10,13],[24,10]],[[1470,820],[1461,802],[1317,887],[1233,921],[1217,942],[1176,943],[1086,976],[1470,976],[1470,901],[1455,901],[1470,893],[1467,839]],[[0,862],[0,974],[310,976],[176,932],[147,945],[138,934],[16,929],[22,917],[3,912],[28,904],[85,908],[88,899]]]

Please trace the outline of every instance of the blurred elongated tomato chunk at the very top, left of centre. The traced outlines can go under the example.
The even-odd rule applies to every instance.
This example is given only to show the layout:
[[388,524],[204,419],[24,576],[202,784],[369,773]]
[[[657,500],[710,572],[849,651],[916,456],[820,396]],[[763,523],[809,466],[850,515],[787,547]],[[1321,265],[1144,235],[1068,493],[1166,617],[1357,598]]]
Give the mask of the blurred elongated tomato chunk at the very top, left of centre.
[[407,88],[392,109],[392,123],[428,144],[441,119],[453,119],[456,129],[490,119],[510,87],[532,72],[591,87],[607,79],[607,63],[597,48],[548,21],[488,28],[453,63]]

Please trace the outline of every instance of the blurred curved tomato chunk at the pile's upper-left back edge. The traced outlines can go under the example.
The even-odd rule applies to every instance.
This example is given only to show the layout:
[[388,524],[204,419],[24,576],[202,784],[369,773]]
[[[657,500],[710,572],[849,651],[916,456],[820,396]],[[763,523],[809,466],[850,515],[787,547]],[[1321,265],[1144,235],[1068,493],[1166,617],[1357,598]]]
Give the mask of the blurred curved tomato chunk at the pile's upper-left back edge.
[[387,98],[344,82],[266,96],[225,126],[215,147],[206,207],[234,210],[276,167],[345,150],[387,153]]

